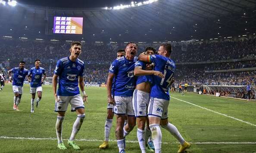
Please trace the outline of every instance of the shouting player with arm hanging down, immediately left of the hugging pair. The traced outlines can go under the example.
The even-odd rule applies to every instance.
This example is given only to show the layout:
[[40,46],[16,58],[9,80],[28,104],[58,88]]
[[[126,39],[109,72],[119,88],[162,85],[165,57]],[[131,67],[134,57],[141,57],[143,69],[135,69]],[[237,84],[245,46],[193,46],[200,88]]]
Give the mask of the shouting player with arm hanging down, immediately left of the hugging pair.
[[[125,153],[125,136],[136,125],[132,108],[132,93],[134,91],[134,56],[137,45],[130,42],[125,47],[125,57],[116,59],[109,68],[107,79],[108,103],[114,104],[116,114],[116,139],[119,153]],[[113,83],[113,79],[115,82]],[[111,92],[113,89],[113,93]],[[128,124],[124,126],[125,114],[128,115]]]

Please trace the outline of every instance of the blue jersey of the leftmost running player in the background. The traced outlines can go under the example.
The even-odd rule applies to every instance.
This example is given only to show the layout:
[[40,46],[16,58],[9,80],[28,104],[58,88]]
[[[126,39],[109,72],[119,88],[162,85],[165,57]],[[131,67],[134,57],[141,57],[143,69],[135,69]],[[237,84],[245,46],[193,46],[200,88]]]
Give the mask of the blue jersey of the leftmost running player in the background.
[[11,72],[13,73],[12,86],[23,86],[25,77],[28,75],[27,69],[19,69],[19,67],[12,68]]

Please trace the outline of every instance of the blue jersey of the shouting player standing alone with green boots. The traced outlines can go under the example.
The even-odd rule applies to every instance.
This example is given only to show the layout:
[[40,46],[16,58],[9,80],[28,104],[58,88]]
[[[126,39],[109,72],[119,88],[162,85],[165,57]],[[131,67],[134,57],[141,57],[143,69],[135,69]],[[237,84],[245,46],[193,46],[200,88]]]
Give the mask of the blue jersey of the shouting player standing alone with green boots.
[[84,62],[77,59],[71,61],[69,57],[59,59],[54,74],[59,76],[59,88],[57,95],[74,96],[79,95],[78,76],[83,76]]

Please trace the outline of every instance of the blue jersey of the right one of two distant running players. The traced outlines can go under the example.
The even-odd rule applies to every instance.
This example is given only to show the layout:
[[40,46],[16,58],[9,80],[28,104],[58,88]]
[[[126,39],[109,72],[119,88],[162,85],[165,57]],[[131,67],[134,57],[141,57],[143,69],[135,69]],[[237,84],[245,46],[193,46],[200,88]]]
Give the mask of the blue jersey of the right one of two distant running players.
[[30,86],[34,88],[42,86],[43,74],[45,75],[45,70],[43,67],[39,67],[38,69],[36,69],[35,67],[32,67],[28,72],[28,76],[31,75]]

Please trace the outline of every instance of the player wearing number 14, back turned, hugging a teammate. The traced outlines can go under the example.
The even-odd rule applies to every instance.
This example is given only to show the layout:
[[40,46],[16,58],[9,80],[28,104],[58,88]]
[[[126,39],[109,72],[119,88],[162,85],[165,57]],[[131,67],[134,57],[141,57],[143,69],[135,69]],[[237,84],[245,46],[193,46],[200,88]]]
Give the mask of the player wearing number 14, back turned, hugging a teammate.
[[170,59],[172,52],[171,44],[162,44],[159,47],[159,55],[144,55],[139,56],[140,61],[153,62],[155,64],[154,70],[163,73],[164,78],[158,76],[153,77],[153,85],[150,92],[150,104],[148,107],[148,116],[150,122],[150,129],[155,146],[155,153],[161,153],[162,133],[160,126],[169,131],[181,144],[178,153],[184,152],[190,144],[184,140],[175,125],[168,121],[168,106],[169,106],[169,86],[172,76],[175,71],[175,62]]

